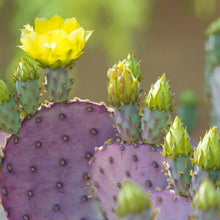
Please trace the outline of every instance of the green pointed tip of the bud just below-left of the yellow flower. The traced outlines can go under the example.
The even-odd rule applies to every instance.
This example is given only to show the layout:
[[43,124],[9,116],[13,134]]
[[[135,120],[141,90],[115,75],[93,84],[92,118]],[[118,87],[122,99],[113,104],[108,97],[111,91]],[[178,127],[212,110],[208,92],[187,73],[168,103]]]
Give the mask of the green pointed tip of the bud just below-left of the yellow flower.
[[17,70],[14,74],[14,80],[16,81],[28,81],[38,79],[39,74],[34,66],[25,58],[22,58],[18,64]]

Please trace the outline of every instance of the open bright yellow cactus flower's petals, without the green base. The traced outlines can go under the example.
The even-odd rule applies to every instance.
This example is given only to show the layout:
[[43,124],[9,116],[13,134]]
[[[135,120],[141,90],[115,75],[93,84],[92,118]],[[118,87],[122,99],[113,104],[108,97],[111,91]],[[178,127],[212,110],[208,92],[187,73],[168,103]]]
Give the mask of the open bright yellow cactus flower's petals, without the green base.
[[36,18],[22,29],[19,46],[43,67],[61,68],[73,63],[84,51],[92,31],[85,31],[76,18]]

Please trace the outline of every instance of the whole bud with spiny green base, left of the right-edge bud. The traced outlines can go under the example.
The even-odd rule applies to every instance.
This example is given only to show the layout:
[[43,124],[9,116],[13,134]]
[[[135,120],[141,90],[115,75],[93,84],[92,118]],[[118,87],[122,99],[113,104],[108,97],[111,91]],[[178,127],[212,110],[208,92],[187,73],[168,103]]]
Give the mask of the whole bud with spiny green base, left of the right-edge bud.
[[163,144],[163,156],[168,163],[164,163],[170,182],[174,185],[179,195],[190,196],[192,146],[186,128],[184,129],[180,118],[176,117],[170,130],[165,136]]

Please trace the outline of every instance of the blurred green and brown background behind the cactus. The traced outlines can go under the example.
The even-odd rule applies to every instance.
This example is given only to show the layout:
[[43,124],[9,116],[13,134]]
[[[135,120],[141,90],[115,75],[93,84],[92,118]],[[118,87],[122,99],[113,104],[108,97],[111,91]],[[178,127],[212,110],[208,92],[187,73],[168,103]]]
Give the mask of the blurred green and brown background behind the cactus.
[[196,93],[199,112],[193,136],[199,138],[210,126],[205,32],[219,12],[219,0],[0,0],[0,78],[14,90],[13,73],[24,56],[16,47],[24,24],[54,14],[77,17],[85,29],[95,31],[73,70],[72,98],[107,102],[108,68],[133,51],[141,60],[144,91],[166,73],[176,106],[184,89]]

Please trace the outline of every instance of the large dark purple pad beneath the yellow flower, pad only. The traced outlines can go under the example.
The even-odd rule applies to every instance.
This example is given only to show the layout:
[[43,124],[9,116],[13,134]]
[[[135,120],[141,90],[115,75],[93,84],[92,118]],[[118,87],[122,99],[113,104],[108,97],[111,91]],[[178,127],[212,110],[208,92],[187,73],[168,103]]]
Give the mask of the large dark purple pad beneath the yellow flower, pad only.
[[10,220],[100,220],[88,161],[114,137],[104,105],[51,104],[25,119],[6,144],[1,197]]

